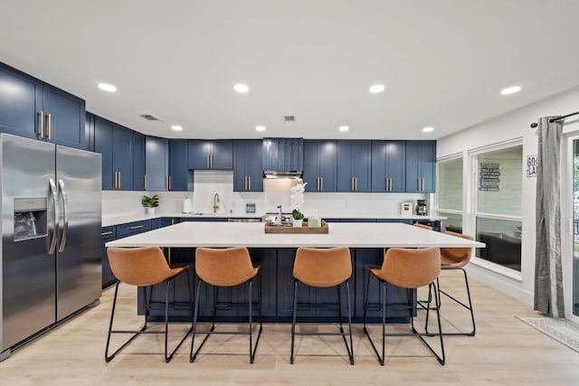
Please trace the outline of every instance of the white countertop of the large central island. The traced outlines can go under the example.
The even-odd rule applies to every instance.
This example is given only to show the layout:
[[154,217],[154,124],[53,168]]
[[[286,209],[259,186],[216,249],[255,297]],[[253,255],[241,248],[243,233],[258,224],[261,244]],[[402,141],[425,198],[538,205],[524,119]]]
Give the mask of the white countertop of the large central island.
[[485,244],[401,222],[328,224],[327,234],[265,233],[263,222],[181,222],[124,239],[107,247],[350,247],[350,248],[484,248]]

